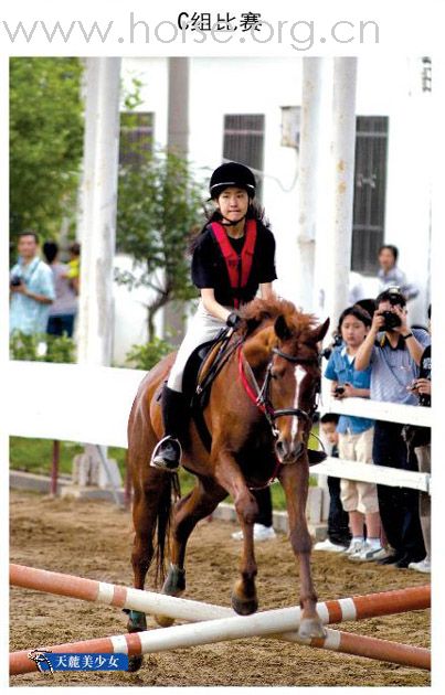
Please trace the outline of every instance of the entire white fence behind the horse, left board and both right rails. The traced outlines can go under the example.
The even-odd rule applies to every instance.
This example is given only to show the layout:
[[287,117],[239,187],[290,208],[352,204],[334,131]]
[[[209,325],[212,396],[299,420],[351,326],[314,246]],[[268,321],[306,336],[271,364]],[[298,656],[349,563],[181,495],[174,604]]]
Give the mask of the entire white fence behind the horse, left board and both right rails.
[[[7,431],[20,437],[127,447],[128,414],[145,372],[35,362],[9,363]],[[431,427],[431,408],[325,396],[324,411]],[[427,473],[328,458],[311,473],[430,491]],[[347,472],[347,475],[345,474]]]

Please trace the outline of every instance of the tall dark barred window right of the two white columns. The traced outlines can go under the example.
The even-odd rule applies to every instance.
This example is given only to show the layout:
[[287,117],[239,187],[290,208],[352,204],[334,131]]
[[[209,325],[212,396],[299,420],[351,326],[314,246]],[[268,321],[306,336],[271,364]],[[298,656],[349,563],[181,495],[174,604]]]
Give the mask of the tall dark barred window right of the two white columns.
[[388,117],[358,116],[351,268],[375,275],[384,237]]

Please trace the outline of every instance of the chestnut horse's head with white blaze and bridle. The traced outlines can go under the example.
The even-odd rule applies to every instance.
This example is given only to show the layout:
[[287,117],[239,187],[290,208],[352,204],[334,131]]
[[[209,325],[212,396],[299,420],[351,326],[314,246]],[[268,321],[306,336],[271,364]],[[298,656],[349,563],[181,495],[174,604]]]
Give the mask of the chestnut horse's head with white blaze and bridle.
[[299,312],[275,320],[277,344],[268,367],[269,400],[280,463],[295,462],[307,446],[321,376],[318,343],[328,328],[329,319],[315,327],[312,317]]

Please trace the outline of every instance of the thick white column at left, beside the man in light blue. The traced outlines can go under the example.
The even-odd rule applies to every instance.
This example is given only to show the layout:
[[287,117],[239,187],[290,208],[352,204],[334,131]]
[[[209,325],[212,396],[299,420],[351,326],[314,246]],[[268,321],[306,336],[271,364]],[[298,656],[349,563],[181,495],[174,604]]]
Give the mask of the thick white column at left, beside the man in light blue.
[[87,58],[86,71],[77,360],[107,365],[113,342],[120,58]]

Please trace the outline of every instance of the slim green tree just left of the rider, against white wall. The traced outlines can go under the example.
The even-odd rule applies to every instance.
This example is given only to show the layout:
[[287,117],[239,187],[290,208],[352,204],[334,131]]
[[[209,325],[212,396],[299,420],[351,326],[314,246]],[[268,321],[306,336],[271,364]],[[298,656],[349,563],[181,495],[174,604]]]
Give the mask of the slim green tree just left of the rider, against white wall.
[[119,168],[117,247],[133,258],[133,271],[116,279],[152,290],[147,304],[148,340],[155,338],[156,312],[197,291],[190,281],[188,245],[202,217],[202,189],[190,165],[176,153],[139,151],[136,165]]

